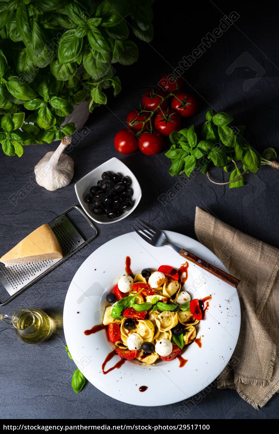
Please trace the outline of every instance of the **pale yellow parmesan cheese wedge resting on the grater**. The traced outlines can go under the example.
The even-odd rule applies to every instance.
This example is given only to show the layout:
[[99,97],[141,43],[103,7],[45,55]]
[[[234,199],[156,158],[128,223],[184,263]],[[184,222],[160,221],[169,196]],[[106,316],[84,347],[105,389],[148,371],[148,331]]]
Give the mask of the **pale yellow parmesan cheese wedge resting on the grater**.
[[0,258],[6,267],[62,258],[60,244],[48,224],[33,230]]

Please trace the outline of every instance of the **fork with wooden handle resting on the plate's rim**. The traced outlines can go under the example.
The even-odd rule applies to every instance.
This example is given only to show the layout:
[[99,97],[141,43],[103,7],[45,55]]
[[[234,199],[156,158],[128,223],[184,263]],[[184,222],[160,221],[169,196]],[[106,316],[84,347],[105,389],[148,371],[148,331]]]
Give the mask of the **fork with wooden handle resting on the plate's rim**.
[[151,244],[151,246],[170,247],[175,252],[183,256],[184,259],[187,259],[200,266],[204,270],[207,270],[209,273],[213,274],[229,285],[234,286],[234,288],[236,288],[237,284],[239,283],[239,280],[236,279],[236,277],[233,277],[229,273],[220,270],[220,268],[217,268],[209,262],[199,258],[198,256],[194,255],[194,253],[190,253],[188,250],[181,249],[181,247],[170,243],[166,235],[161,230],[151,226],[151,224],[146,223],[144,220],[137,219],[132,228],[144,241]]

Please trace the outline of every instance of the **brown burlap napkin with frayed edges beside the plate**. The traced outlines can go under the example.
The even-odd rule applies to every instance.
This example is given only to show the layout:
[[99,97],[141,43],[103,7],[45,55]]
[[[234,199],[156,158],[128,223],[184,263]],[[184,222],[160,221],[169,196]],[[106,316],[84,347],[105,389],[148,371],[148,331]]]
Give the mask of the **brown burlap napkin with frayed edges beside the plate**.
[[217,388],[235,389],[253,407],[263,407],[279,391],[279,250],[198,207],[195,232],[240,279],[240,336]]

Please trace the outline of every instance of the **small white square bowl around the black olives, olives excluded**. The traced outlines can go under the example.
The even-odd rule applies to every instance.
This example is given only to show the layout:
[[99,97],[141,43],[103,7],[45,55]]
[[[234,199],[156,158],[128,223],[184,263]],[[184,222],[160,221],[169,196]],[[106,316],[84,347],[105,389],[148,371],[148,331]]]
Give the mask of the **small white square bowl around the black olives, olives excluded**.
[[[120,173],[122,176],[128,176],[132,181],[131,189],[133,190],[133,196],[131,197],[133,206],[131,207],[131,209],[124,211],[119,217],[115,217],[111,220],[108,220],[108,217],[106,217],[105,214],[94,214],[92,211],[92,205],[87,204],[84,200],[86,194],[89,193],[90,187],[92,187],[92,185],[97,185],[98,180],[102,179],[102,173],[106,171],[111,173]],[[75,193],[79,199],[79,203],[81,204],[82,209],[85,211],[88,217],[90,217],[96,223],[101,224],[111,224],[123,220],[136,209],[139,201],[141,200],[141,187],[138,183],[137,178],[135,177],[133,172],[131,172],[131,170],[126,166],[126,164],[122,163],[122,161],[118,160],[118,158],[115,157],[111,158],[108,161],[105,161],[105,163],[103,164],[100,164],[98,167],[96,167],[91,172],[86,174],[83,178],[81,178],[75,184]]]

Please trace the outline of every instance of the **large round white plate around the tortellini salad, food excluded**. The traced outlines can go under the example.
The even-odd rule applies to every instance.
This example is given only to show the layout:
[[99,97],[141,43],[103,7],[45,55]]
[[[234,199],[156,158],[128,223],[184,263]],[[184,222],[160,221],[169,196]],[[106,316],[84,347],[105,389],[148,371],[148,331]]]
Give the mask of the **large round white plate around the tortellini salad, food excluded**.
[[[188,249],[222,270],[226,268],[202,244],[179,233],[164,231],[168,239]],[[138,360],[126,361],[120,369],[102,373],[102,363],[114,345],[105,330],[86,336],[84,331],[102,323],[105,296],[125,273],[125,257],[131,257],[131,270],[157,270],[160,265],[181,266],[183,258],[167,247],[152,247],[135,232],[108,241],[93,252],[75,273],[66,295],[63,323],[69,352],[77,367],[95,387],[128,404],[157,406],[173,404],[197,394],[225,368],[236,346],[240,331],[240,303],[236,289],[207,274],[189,262],[185,283],[191,298],[211,294],[210,308],[197,327],[202,347],[193,342],[182,356],[188,360],[179,368],[177,359],[154,365]],[[106,369],[120,359],[117,355]],[[148,386],[144,392],[140,386]]]

